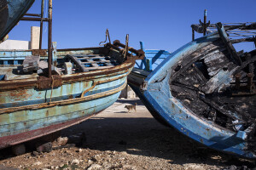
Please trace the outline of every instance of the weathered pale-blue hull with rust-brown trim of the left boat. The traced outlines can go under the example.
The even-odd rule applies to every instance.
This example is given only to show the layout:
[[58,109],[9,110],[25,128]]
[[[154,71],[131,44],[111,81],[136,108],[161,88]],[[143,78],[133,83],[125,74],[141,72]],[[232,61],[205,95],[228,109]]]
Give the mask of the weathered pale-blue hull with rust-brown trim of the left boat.
[[[64,63],[67,54],[93,53],[95,56],[102,50],[105,48],[58,50],[54,59]],[[0,73],[8,77],[0,81],[0,149],[54,133],[108,108],[119,98],[135,64],[134,60],[125,60],[107,69],[98,66],[97,70],[63,74],[56,80],[53,76],[51,80],[57,82],[54,86],[55,82],[47,82],[47,77],[33,72],[13,74],[32,50],[1,51],[0,54]],[[107,58],[110,55],[119,56],[111,50]],[[47,87],[42,88],[42,84]]]

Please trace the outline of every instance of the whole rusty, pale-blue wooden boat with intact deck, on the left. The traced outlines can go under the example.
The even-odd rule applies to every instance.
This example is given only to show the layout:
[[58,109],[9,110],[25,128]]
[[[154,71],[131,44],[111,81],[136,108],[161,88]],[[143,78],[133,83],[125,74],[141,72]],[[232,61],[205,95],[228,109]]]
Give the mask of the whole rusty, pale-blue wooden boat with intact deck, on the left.
[[109,40],[99,48],[56,49],[51,42],[51,5],[49,0],[49,18],[26,18],[49,22],[48,49],[0,50],[0,149],[70,127],[106,109],[125,88],[135,59],[143,59],[142,50],[128,47],[128,36],[126,44]]

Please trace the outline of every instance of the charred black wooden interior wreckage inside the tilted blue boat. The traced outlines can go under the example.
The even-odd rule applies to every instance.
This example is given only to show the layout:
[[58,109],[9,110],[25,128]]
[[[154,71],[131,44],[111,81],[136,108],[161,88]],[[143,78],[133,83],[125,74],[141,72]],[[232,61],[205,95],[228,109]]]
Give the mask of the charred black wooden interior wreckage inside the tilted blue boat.
[[230,131],[246,131],[247,140],[253,141],[256,139],[256,50],[236,52],[233,44],[255,44],[256,39],[253,34],[231,39],[229,32],[253,31],[256,24],[218,23],[214,29],[219,34],[216,41],[186,53],[173,68],[172,95],[202,119]]

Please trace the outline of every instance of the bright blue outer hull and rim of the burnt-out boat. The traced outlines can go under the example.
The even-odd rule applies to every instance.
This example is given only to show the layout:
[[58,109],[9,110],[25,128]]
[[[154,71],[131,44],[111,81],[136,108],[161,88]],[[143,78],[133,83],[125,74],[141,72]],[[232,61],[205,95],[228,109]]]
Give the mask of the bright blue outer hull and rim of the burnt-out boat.
[[[224,29],[222,28],[220,31],[224,32]],[[161,123],[167,123],[167,125],[175,127],[177,131],[188,136],[190,139],[194,139],[212,149],[221,150],[236,156],[255,159],[255,151],[250,147],[253,144],[250,139],[253,139],[253,137],[247,139],[249,135],[253,135],[253,133],[248,133],[248,129],[253,126],[253,123],[248,125],[248,127],[238,130],[233,129],[236,127],[236,123],[233,128],[224,127],[219,125],[218,122],[214,122],[215,120],[212,121],[209,118],[199,115],[195,110],[193,111],[193,108],[191,109],[191,107],[185,103],[190,102],[186,100],[186,98],[181,99],[177,94],[174,95],[176,91],[174,91],[175,86],[172,85],[172,81],[175,79],[175,72],[183,68],[182,61],[188,61],[188,58],[185,58],[188,56],[191,56],[190,59],[193,59],[192,54],[198,51],[201,51],[202,54],[205,53],[204,56],[207,56],[207,50],[219,50],[219,46],[215,44],[212,45],[212,42],[220,41],[218,33],[220,31],[196,39],[182,48],[177,49],[177,51],[169,55],[153,71],[147,71],[137,68],[136,66],[128,77],[128,84],[134,89],[138,97],[143,100],[143,103],[147,106],[152,115]],[[201,53],[199,53],[199,55]],[[212,50],[211,53],[214,53],[214,50]],[[215,77],[218,77],[218,82],[226,83],[230,82],[232,78],[231,75],[232,71],[226,71],[223,74],[222,71],[219,70]],[[183,79],[185,78],[186,77]],[[211,80],[213,79],[214,78]],[[205,92],[210,94],[209,91],[212,90],[212,86],[208,89],[204,89]],[[182,88],[183,87],[181,87],[181,89]],[[219,86],[218,88],[223,87]],[[177,87],[177,89],[180,89],[180,87]],[[220,108],[218,109],[220,110]],[[235,117],[234,119],[237,117],[237,119],[240,120],[239,114],[232,113],[230,116]]]

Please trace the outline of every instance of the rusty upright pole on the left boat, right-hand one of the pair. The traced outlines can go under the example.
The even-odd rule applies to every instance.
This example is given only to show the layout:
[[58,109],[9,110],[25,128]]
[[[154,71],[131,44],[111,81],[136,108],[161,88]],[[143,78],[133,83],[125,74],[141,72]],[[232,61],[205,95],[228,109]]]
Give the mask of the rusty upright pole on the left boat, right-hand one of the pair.
[[52,0],[49,0],[48,19],[48,77],[50,78],[52,63]]

